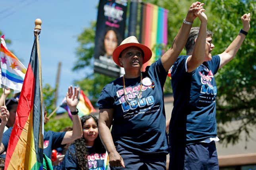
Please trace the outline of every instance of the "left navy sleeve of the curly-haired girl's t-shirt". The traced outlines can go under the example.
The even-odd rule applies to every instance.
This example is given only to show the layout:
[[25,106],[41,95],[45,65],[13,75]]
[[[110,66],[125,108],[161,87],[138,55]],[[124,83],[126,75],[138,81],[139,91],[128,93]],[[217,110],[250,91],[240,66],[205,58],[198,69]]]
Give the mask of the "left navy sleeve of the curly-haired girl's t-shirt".
[[65,157],[62,162],[62,167],[64,170],[76,170],[77,169],[77,159],[75,157],[75,146],[70,145],[67,149]]

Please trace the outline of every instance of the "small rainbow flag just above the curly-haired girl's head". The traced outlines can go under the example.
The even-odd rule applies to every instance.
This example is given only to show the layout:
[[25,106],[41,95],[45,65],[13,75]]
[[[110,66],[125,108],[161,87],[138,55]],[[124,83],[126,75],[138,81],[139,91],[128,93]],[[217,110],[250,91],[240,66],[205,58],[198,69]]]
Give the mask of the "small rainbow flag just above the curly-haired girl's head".
[[82,117],[83,115],[89,115],[90,112],[96,111],[92,106],[89,98],[85,96],[83,90],[80,90],[78,98],[79,98],[79,102],[77,104],[77,109],[79,111],[78,112],[79,117]]

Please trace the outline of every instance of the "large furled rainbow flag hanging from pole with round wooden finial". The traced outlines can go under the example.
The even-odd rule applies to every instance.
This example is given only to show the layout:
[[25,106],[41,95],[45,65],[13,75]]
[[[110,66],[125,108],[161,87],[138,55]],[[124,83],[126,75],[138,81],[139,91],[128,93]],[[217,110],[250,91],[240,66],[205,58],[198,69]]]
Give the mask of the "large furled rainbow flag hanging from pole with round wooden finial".
[[42,170],[42,75],[38,35],[21,90],[15,125],[6,153],[5,170]]

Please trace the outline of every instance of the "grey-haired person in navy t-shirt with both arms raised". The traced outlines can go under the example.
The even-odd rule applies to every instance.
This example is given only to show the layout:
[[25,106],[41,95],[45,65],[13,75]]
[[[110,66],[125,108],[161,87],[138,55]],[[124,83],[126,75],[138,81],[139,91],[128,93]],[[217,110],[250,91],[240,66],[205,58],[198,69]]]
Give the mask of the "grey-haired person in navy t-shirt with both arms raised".
[[[214,75],[232,60],[250,29],[250,13],[241,17],[243,29],[223,53],[212,56],[212,32],[204,15],[200,28],[193,27],[185,45],[187,55],[171,68],[174,104],[169,125],[169,169],[218,170]],[[202,18],[202,19],[203,19]]]

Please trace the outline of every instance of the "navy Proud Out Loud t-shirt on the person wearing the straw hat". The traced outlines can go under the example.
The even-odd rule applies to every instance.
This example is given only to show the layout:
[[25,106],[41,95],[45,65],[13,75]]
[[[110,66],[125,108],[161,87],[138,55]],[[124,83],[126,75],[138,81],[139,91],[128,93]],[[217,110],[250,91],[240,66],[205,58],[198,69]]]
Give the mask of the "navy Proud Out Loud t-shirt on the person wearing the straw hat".
[[114,109],[111,133],[115,146],[119,144],[146,153],[168,153],[163,95],[166,76],[161,59],[147,67],[142,72],[139,103],[137,95],[141,77],[125,78],[126,94],[131,106],[125,101],[123,77],[102,89],[98,100],[99,109]]

